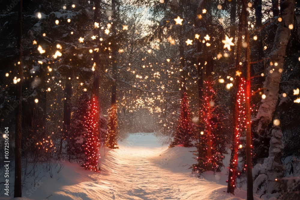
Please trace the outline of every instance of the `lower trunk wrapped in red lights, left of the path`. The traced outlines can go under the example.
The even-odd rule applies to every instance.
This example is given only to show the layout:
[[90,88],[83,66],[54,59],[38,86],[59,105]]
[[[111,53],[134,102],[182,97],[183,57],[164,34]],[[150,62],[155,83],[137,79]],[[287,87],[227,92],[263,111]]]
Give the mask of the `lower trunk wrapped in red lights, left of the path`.
[[99,107],[95,97],[89,102],[87,117],[85,117],[85,169],[98,172],[98,158],[100,140],[98,138]]

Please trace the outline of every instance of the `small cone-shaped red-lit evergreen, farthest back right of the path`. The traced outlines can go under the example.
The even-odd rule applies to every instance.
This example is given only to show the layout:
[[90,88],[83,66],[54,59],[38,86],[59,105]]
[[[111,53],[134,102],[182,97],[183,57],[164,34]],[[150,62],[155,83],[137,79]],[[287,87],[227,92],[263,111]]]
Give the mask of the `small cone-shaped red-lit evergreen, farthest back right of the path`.
[[177,130],[175,133],[174,141],[171,142],[170,147],[175,145],[183,145],[184,147],[193,146],[192,141],[194,139],[194,131],[192,121],[190,119],[190,108],[187,99],[187,93],[184,92],[181,100],[181,112],[177,124]]

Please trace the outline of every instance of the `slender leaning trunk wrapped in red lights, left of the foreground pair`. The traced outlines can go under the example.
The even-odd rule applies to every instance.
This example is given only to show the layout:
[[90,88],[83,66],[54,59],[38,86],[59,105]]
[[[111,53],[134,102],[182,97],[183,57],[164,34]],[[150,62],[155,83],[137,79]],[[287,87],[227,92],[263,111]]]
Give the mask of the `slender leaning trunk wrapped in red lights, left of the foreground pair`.
[[[242,8],[241,15],[239,18],[239,28],[238,28],[238,40],[236,44],[236,60],[235,60],[235,71],[241,72],[241,65],[239,64],[241,61],[241,42],[242,35],[244,30],[244,16],[246,15],[246,8]],[[234,194],[235,184],[236,184],[236,169],[237,169],[237,161],[238,161],[238,137],[239,137],[239,106],[238,106],[238,89],[241,84],[240,76],[235,76],[235,90],[234,90],[234,101],[233,101],[233,110],[232,110],[232,145],[231,145],[231,156],[229,163],[229,175],[228,175],[228,187],[227,193]]]

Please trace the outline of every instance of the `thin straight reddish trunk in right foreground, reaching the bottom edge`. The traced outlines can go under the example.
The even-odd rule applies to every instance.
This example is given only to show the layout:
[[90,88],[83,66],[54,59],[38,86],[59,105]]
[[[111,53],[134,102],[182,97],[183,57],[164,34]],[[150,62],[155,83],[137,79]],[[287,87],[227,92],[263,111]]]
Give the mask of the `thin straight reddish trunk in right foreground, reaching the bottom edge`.
[[[246,4],[245,1],[243,1]],[[252,177],[252,155],[251,155],[251,77],[250,77],[250,43],[249,33],[247,28],[247,18],[245,19],[245,42],[247,43],[246,48],[246,164],[247,164],[247,200],[253,200],[253,177]]]

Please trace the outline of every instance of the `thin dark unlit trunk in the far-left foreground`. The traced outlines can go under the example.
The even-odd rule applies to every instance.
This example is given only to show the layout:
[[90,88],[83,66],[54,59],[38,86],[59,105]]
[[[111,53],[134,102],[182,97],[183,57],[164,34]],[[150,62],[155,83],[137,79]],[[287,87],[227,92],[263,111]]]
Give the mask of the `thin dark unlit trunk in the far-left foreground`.
[[21,80],[16,84],[16,125],[15,125],[15,183],[14,183],[14,197],[22,197],[22,82],[23,82],[23,63],[22,63],[22,4],[19,2],[19,32],[18,32],[18,76]]

